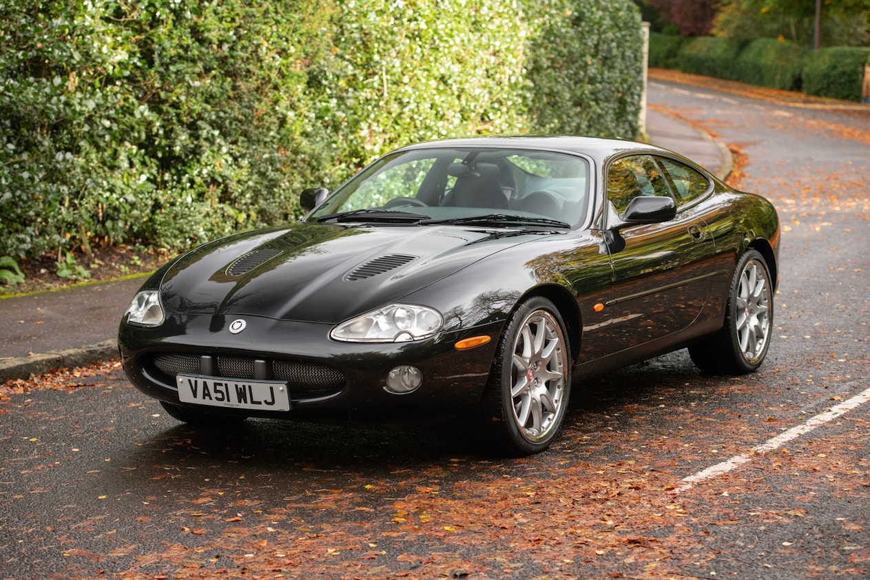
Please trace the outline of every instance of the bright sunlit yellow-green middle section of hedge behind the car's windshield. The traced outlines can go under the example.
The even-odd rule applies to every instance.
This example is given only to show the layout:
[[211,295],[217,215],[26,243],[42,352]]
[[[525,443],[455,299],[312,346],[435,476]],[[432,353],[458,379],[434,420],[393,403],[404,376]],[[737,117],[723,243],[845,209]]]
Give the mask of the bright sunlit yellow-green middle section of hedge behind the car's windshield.
[[516,3],[345,4],[332,21],[318,123],[336,164],[327,186],[398,144],[524,129]]

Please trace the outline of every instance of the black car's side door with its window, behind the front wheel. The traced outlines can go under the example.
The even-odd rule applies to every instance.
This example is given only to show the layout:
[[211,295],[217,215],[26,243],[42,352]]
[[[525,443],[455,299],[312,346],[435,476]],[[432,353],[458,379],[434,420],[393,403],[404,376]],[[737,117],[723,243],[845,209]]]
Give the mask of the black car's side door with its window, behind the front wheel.
[[619,214],[639,196],[672,197],[678,206],[671,220],[620,230],[625,246],[609,247],[613,338],[629,348],[685,329],[704,307],[714,272],[713,237],[700,204],[680,203],[673,181],[648,155],[611,163],[606,191]]

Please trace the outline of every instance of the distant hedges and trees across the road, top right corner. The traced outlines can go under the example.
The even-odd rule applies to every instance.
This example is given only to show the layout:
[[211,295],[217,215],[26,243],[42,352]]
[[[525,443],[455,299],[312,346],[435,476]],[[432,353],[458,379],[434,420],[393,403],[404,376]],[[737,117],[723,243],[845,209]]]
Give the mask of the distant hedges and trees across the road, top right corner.
[[806,95],[861,101],[870,4],[843,0],[638,0],[652,22],[649,65]]

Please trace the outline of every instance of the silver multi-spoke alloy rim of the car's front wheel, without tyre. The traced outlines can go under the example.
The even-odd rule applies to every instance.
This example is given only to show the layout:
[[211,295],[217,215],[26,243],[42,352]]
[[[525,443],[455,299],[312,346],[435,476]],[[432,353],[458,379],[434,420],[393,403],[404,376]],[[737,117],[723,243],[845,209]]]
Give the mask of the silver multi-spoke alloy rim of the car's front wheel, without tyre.
[[559,429],[565,412],[568,357],[559,322],[534,310],[512,349],[511,399],[519,433],[531,443]]

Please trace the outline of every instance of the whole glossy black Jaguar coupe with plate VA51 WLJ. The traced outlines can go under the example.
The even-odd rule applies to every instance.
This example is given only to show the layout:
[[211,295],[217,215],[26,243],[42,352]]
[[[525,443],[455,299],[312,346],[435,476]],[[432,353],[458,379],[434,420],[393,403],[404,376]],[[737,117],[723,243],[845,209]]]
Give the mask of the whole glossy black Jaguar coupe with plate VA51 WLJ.
[[688,347],[751,372],[773,330],[764,198],[644,143],[421,143],[296,223],[167,263],[120,325],[124,370],[187,423],[464,417],[544,450],[572,385]]

